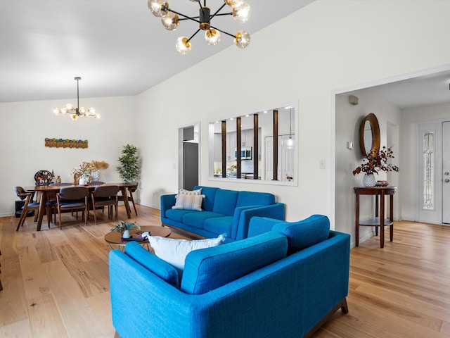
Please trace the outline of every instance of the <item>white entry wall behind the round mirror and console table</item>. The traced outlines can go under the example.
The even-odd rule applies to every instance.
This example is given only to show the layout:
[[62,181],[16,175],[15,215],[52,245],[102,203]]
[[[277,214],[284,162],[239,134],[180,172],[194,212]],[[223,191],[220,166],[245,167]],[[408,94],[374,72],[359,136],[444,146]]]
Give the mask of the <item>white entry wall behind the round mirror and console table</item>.
[[[336,96],[336,209],[335,220],[338,230],[352,234],[352,245],[355,242],[355,194],[354,187],[361,187],[363,174],[352,175],[353,170],[358,167],[363,160],[363,154],[359,148],[359,126],[361,120],[369,113],[374,113],[380,125],[380,146],[391,146],[387,142],[388,125],[399,125],[401,110],[387,102],[382,96],[376,94],[371,89],[362,89],[353,92],[358,97],[359,103],[354,106],[349,104],[349,95],[342,94]],[[347,148],[347,142],[354,143],[354,149]],[[394,144],[392,148],[394,156],[400,157],[402,153],[401,144]],[[387,180],[385,173],[375,175],[377,180]],[[390,184],[398,187],[399,173],[394,173],[390,177]],[[392,179],[394,182],[392,182]],[[397,194],[394,196],[394,206],[397,210],[394,212],[394,219],[399,219],[398,206],[402,196],[402,189],[398,187]],[[360,196],[359,198],[359,217],[360,220],[375,217],[375,206],[373,196]],[[359,241],[372,236],[371,227],[360,227]]]

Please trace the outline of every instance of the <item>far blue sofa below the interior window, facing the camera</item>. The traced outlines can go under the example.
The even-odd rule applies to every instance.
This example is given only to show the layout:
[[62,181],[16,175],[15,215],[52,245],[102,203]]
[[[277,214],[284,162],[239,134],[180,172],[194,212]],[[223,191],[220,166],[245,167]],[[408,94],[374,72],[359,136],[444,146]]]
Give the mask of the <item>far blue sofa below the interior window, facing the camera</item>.
[[284,204],[266,192],[245,192],[196,186],[204,196],[203,211],[172,209],[176,194],[161,196],[161,222],[200,237],[226,234],[226,242],[248,237],[248,225],[254,216],[284,220]]

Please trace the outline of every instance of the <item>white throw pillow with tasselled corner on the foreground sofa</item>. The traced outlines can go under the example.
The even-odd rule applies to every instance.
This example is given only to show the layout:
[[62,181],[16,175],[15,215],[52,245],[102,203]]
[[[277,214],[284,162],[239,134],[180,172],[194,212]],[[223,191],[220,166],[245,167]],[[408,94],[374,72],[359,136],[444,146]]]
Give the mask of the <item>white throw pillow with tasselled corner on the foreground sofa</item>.
[[184,270],[184,260],[188,256],[188,253],[197,249],[218,246],[221,242],[224,242],[225,235],[221,234],[217,238],[197,239],[194,241],[159,236],[148,236],[147,238],[150,246],[155,251],[155,255],[170,265],[173,265],[181,277]]

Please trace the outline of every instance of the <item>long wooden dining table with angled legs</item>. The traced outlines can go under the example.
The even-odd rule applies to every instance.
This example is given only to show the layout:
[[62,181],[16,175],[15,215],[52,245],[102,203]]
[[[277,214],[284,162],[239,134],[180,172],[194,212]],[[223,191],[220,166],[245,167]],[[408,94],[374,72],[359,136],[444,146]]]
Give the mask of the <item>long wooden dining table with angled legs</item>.
[[[131,218],[131,209],[129,208],[129,200],[127,189],[132,187],[137,187],[136,183],[103,183],[102,185],[117,185],[122,192],[123,201],[125,205],[125,210],[127,211],[128,218]],[[89,191],[94,191],[98,184],[50,184],[50,185],[35,185],[32,187],[24,187],[26,192],[37,192],[39,194],[39,211],[37,216],[37,227],[36,231],[41,230],[42,220],[44,219],[44,213],[46,212],[46,202],[49,201],[49,196],[56,194],[63,187],[87,187]]]

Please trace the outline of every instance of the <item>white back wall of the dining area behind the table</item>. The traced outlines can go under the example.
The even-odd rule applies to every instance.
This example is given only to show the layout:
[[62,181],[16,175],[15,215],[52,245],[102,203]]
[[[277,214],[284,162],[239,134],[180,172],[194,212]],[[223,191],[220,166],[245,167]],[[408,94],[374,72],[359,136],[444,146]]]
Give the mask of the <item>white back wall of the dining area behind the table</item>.
[[[93,106],[102,118],[57,116],[53,108],[76,99],[30,101],[0,104],[1,175],[0,215],[14,213],[15,186],[34,185],[38,170],[53,170],[63,182],[73,182],[70,175],[81,161],[106,161],[101,180],[120,182],[115,171],[122,146],[136,142],[136,98],[134,96],[80,99],[80,105]],[[44,139],[87,139],[87,149],[49,148]]]

